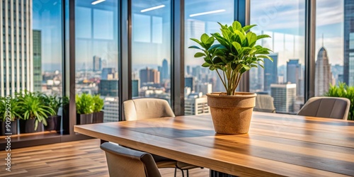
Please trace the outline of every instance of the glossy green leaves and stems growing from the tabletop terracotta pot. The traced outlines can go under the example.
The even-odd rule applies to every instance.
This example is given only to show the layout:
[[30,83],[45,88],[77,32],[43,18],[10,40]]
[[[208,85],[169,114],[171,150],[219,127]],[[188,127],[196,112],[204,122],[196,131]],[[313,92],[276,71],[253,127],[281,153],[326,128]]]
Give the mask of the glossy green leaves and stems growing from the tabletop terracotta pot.
[[[208,67],[216,71],[222,84],[227,91],[227,95],[234,95],[241,80],[242,74],[252,67],[263,67],[263,59],[273,59],[269,56],[268,48],[256,45],[257,40],[270,38],[269,35],[256,35],[249,31],[255,25],[242,27],[241,23],[234,21],[232,25],[220,25],[220,33],[212,33],[211,36],[202,34],[200,40],[191,38],[200,45],[189,48],[202,50],[195,53],[194,57],[203,57],[202,67]],[[249,32],[247,32],[249,31]],[[215,40],[219,44],[214,44]],[[220,72],[222,74],[220,74]]]

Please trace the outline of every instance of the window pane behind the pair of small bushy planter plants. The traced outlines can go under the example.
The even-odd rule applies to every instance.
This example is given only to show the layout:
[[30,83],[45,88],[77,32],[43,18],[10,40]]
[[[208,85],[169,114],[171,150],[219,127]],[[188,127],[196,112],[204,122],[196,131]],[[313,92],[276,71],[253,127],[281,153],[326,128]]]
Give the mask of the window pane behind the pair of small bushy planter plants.
[[99,95],[103,122],[118,121],[118,1],[75,3],[76,94]]

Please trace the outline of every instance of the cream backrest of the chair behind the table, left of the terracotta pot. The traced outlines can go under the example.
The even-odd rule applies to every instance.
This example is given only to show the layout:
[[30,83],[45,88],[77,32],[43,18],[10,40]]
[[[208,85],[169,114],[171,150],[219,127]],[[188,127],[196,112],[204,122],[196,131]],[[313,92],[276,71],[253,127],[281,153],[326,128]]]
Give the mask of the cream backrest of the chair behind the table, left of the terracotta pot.
[[158,98],[138,98],[123,102],[125,120],[175,117],[169,102]]

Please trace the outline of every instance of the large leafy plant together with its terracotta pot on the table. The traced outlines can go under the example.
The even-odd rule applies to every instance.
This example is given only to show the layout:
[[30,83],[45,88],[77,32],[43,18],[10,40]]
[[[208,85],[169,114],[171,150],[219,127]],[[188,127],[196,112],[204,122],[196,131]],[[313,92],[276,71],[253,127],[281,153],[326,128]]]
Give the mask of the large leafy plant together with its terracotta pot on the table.
[[[216,71],[226,93],[207,93],[207,104],[210,106],[215,131],[223,134],[244,134],[249,131],[256,93],[235,92],[242,74],[252,67],[263,65],[263,59],[268,57],[270,50],[256,45],[261,38],[270,38],[269,35],[256,35],[249,31],[255,25],[242,27],[234,21],[232,25],[220,25],[220,33],[211,36],[202,34],[200,40],[192,38],[200,45],[189,48],[202,50],[194,57],[203,57],[202,67]],[[214,44],[215,40],[219,42]]]

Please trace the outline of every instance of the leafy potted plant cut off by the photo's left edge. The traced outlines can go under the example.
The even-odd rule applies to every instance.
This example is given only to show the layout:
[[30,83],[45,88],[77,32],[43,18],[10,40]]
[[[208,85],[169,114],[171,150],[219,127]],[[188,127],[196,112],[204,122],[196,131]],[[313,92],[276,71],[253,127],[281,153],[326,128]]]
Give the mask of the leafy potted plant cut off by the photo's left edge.
[[0,97],[1,136],[17,135],[18,119],[21,119],[21,107],[10,96]]

